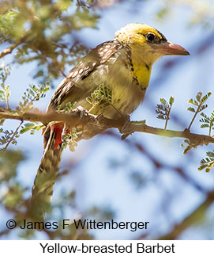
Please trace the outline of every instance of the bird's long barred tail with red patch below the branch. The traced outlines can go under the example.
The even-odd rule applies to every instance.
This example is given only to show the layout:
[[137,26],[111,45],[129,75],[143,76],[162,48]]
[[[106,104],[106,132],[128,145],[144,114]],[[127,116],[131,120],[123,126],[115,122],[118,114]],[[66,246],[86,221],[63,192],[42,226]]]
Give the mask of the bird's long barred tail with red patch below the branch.
[[35,220],[43,220],[51,208],[51,196],[62,155],[62,129],[63,124],[58,123],[48,126],[44,132],[43,158],[32,187],[31,216]]

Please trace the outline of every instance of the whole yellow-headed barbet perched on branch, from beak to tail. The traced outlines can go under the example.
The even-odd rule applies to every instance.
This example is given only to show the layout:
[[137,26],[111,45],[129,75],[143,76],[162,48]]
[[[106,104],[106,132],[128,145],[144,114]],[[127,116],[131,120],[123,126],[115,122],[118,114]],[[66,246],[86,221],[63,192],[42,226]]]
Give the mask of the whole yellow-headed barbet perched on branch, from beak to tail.
[[[141,104],[148,87],[152,64],[163,55],[190,55],[163,34],[142,23],[125,25],[109,40],[79,59],[55,90],[47,113],[75,102],[75,106],[107,118],[130,115]],[[100,90],[111,92],[110,104],[92,105],[88,98]],[[43,158],[32,187],[32,212],[44,218],[51,205],[54,182],[62,155],[62,131],[65,124],[47,124],[44,132]],[[41,217],[42,216],[42,217]]]

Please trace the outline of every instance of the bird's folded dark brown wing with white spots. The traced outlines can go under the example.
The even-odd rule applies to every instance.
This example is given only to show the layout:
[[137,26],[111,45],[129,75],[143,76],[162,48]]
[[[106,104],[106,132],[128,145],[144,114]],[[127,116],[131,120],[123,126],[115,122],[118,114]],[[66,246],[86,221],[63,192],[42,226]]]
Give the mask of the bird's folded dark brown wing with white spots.
[[77,95],[81,88],[75,86],[75,83],[80,79],[88,77],[93,71],[96,70],[100,64],[105,63],[112,55],[115,54],[123,45],[118,41],[107,41],[103,44],[99,44],[96,48],[92,49],[84,58],[80,59],[75,67],[69,74],[62,80],[57,90],[55,90],[51,102],[47,110],[56,109],[58,105],[63,103],[65,97],[73,94],[73,101],[78,101]]

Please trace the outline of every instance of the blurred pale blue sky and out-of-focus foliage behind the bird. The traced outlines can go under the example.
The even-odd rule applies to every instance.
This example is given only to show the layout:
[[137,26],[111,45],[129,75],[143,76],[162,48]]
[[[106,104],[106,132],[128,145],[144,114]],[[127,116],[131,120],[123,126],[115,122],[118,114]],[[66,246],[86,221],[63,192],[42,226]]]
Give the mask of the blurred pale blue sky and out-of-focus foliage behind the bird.
[[[156,105],[160,104],[160,97],[168,101],[174,96],[167,128],[183,131],[193,118],[193,113],[186,111],[187,101],[199,91],[203,95],[212,92],[208,108],[203,111],[208,116],[212,113],[213,1],[17,0],[2,1],[1,5],[1,19],[13,10],[18,13],[15,19],[19,17],[20,24],[13,27],[14,31],[9,30],[9,40],[2,40],[0,52],[21,40],[29,29],[32,33],[30,39],[22,40],[2,60],[4,65],[11,65],[6,80],[11,90],[10,108],[17,107],[29,84],[50,81],[51,90],[34,104],[45,111],[63,74],[78,57],[89,48],[112,40],[122,26],[141,22],[182,45],[190,56],[166,56],[154,64],[145,101],[131,119],[146,120],[148,125],[163,128],[164,120],[156,118]],[[29,18],[32,16],[36,16],[33,21]],[[199,119],[200,115],[191,132],[208,135],[208,129],[200,128]],[[19,124],[6,120],[3,128],[14,131]],[[213,168],[208,173],[197,170],[213,145],[198,146],[183,155],[183,139],[140,132],[125,140],[120,138],[117,129],[110,129],[81,141],[75,152],[64,151],[47,220],[149,221],[147,230],[76,231],[73,225],[66,230],[6,229],[6,220],[26,214],[43,155],[39,131],[34,135],[24,133],[17,138],[17,145],[9,145],[1,156],[0,239],[214,239],[214,172]]]

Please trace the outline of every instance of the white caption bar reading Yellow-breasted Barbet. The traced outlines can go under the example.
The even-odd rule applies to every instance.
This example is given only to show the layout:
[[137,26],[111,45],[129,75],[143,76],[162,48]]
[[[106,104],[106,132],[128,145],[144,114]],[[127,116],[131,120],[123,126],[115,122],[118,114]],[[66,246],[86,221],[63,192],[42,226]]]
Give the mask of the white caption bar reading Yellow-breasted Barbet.
[[214,253],[214,241],[90,240],[0,241],[2,255],[206,255]]

